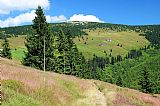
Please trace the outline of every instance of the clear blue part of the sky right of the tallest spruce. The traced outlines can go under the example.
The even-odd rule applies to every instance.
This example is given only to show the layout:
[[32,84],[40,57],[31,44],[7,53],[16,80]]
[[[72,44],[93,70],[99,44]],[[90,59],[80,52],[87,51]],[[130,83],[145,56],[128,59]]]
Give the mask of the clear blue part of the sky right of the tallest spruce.
[[52,0],[51,14],[92,14],[105,22],[160,23],[160,0]]

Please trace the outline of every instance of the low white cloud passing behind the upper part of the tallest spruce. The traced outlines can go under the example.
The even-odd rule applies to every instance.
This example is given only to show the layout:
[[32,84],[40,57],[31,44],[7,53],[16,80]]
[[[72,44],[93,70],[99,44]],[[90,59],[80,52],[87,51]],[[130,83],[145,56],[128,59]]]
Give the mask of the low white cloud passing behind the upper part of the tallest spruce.
[[[35,18],[35,10],[32,10],[29,13],[20,14],[14,18],[7,18],[6,20],[0,20],[0,27],[9,27],[9,26],[18,26],[24,23],[31,23],[32,20]],[[60,16],[46,16],[46,20],[49,23],[53,22],[62,22],[67,20],[64,15]]]

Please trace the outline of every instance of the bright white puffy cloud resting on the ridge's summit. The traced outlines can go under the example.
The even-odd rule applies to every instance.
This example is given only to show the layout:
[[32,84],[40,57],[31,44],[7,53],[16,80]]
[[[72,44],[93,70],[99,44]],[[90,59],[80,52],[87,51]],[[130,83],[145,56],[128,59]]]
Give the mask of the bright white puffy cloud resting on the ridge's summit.
[[74,14],[68,21],[104,22],[94,15]]

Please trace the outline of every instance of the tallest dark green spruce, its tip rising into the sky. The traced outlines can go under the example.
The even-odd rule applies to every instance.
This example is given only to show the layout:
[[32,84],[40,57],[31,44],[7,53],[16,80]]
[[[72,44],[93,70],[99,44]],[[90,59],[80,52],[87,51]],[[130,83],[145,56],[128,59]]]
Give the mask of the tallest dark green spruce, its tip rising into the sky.
[[54,70],[54,39],[40,6],[36,9],[32,30],[32,35],[28,35],[26,38],[25,46],[28,52],[25,53],[22,63],[26,66],[43,69],[45,45],[46,70]]

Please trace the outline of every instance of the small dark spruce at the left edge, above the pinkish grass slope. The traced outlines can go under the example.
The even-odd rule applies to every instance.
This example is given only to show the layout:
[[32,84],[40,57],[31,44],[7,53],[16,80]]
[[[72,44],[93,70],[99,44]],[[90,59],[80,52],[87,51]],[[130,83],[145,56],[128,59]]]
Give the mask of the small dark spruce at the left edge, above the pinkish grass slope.
[[12,59],[11,49],[9,47],[9,42],[6,37],[3,37],[1,56],[4,58]]

